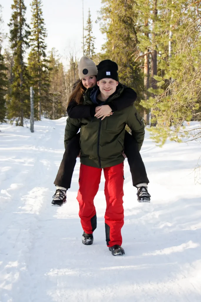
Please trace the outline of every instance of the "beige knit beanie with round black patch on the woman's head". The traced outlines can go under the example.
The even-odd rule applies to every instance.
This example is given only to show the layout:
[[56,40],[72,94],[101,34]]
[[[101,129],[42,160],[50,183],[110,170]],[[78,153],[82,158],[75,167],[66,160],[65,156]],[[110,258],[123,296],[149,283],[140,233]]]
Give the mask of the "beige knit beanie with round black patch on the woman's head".
[[86,76],[96,76],[98,73],[96,64],[93,63],[93,61],[87,56],[81,57],[80,62],[78,64],[78,70],[80,80],[85,78]]

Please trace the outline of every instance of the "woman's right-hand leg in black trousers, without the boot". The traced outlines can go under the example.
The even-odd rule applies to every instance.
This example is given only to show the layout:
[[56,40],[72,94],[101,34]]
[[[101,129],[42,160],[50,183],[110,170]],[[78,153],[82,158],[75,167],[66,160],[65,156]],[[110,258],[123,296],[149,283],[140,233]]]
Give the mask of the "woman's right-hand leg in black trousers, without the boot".
[[149,183],[149,179],[146,175],[146,169],[138,150],[138,144],[136,140],[125,131],[124,137],[124,153],[127,156],[128,164],[130,166],[130,173],[132,176],[133,186],[141,183]]

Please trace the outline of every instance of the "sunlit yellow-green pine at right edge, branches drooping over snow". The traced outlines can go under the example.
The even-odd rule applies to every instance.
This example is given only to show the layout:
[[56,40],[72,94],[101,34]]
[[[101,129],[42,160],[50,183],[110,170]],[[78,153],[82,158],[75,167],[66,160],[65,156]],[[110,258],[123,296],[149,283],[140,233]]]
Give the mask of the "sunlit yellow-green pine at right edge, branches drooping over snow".
[[[181,128],[183,122],[201,118],[200,14],[200,1],[169,0],[159,11],[161,70],[154,77],[157,89],[150,90],[155,98],[149,98],[144,106],[153,108],[157,124],[151,128],[152,137],[160,144],[168,137],[179,142],[188,137]],[[201,128],[196,137],[199,135]]]

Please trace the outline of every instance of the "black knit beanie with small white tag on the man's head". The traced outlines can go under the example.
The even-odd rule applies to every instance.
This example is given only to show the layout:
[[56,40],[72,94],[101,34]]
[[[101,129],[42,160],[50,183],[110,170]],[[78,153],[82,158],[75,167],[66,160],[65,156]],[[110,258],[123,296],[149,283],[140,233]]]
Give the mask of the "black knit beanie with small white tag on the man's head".
[[100,81],[104,78],[109,78],[119,82],[117,71],[117,63],[111,60],[103,60],[98,65],[97,81]]

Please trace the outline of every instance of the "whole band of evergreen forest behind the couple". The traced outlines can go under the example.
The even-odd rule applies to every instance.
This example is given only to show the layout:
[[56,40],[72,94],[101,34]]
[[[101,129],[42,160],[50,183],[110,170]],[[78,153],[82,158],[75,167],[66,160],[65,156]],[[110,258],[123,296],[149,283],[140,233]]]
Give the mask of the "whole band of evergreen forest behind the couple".
[[[78,78],[74,50],[69,51],[67,71],[55,49],[47,59],[42,0],[32,0],[31,8],[29,39],[24,0],[13,0],[11,49],[5,50],[4,56],[0,53],[0,121],[6,108],[7,117],[20,119],[21,125],[23,117],[30,114],[31,85],[35,117],[40,119],[42,113],[56,119],[66,114],[66,103]],[[182,129],[184,121],[201,120],[201,0],[102,0],[99,21],[106,34],[102,53],[95,53],[89,10],[85,55],[96,65],[102,59],[118,63],[120,82],[137,92],[136,104],[147,124],[151,113],[154,127],[150,131],[157,143],[162,145],[168,137],[188,139],[190,134]],[[29,43],[27,68],[24,56]],[[193,138],[199,136],[201,129]]]

